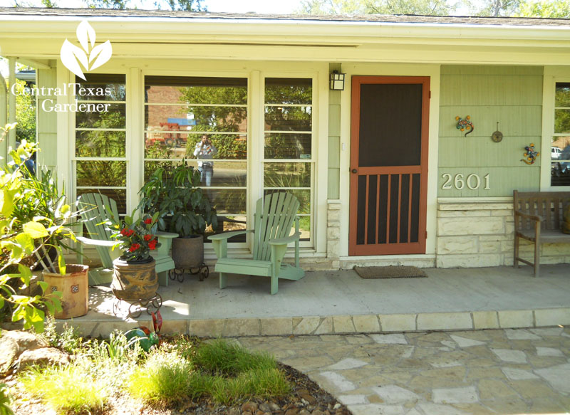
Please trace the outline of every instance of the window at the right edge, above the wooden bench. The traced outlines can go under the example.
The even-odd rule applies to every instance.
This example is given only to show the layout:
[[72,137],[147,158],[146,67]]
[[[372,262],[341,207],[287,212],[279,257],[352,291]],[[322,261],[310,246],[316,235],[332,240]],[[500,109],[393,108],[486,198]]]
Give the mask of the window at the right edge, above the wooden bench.
[[570,186],[570,83],[557,82],[551,137],[551,186]]

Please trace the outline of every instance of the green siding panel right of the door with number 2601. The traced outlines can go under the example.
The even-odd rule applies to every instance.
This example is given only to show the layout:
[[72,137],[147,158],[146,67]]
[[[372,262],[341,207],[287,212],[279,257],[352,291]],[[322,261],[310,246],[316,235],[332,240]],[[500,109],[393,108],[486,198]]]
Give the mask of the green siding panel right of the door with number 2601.
[[[521,159],[530,143],[540,150],[542,67],[443,65],[440,95],[438,196],[511,196],[513,189],[539,189],[542,157],[532,165]],[[475,128],[465,137],[455,117],[467,115]],[[497,122],[499,143],[491,140]]]

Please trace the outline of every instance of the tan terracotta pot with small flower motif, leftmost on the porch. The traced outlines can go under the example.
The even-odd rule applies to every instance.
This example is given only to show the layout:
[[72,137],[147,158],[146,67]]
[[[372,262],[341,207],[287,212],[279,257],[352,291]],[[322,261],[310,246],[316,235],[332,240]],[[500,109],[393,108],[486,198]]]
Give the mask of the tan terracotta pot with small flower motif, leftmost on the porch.
[[61,291],[61,310],[56,318],[71,318],[86,315],[88,311],[88,272],[89,266],[70,264],[66,274],[51,273],[43,270],[43,280],[48,283],[46,293]]

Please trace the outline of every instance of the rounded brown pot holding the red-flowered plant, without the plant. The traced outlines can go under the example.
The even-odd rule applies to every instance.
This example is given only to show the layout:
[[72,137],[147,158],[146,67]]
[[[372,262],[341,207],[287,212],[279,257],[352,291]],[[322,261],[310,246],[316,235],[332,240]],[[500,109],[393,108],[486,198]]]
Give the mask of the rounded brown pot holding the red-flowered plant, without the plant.
[[155,271],[155,259],[148,261],[127,262],[120,258],[113,261],[113,294],[119,300],[150,300],[156,295],[158,278]]

